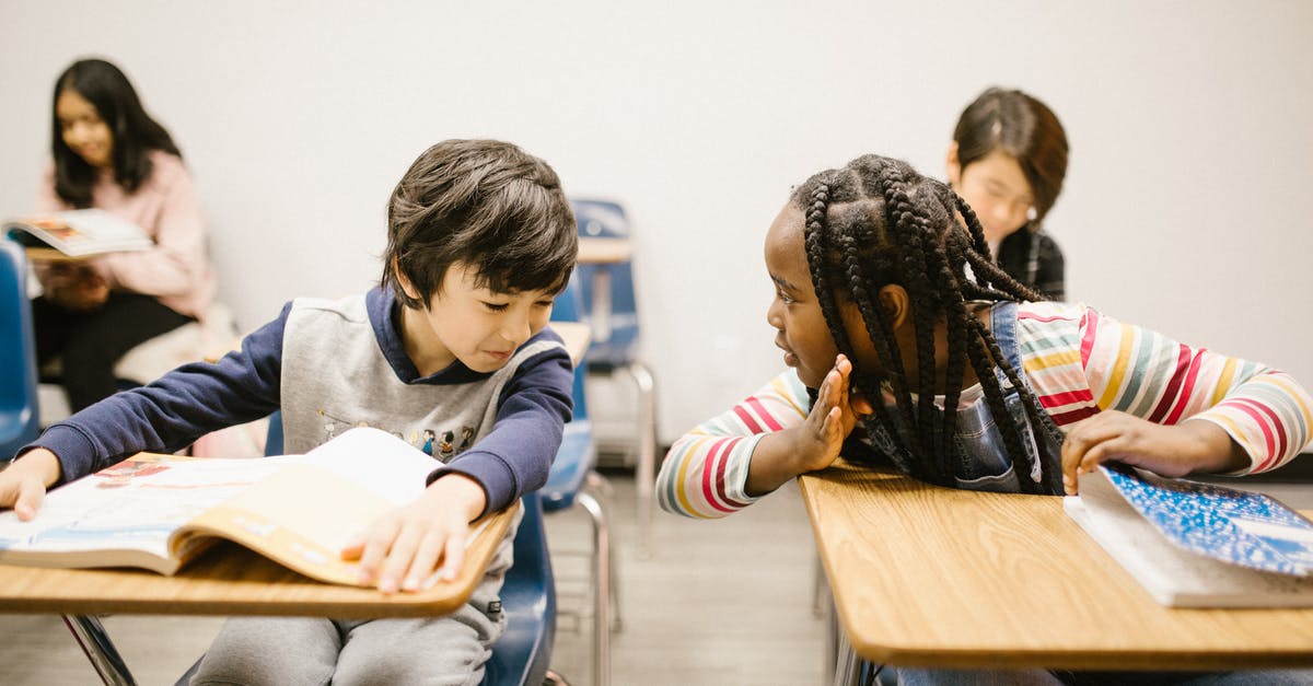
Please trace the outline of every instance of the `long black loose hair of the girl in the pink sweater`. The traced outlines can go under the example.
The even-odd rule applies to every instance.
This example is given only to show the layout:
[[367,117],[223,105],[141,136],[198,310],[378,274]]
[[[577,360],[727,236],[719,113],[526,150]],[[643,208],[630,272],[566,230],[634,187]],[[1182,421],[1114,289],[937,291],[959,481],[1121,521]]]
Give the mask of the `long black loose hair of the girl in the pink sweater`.
[[55,79],[51,99],[50,150],[55,160],[55,194],[74,208],[91,206],[97,170],[64,143],[56,105],[72,91],[91,103],[113,134],[114,181],[131,193],[151,175],[150,152],[160,150],[183,156],[173,138],[142,106],[127,76],[104,59],[79,59]]

